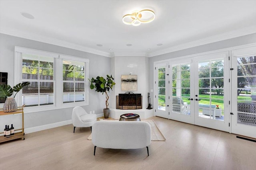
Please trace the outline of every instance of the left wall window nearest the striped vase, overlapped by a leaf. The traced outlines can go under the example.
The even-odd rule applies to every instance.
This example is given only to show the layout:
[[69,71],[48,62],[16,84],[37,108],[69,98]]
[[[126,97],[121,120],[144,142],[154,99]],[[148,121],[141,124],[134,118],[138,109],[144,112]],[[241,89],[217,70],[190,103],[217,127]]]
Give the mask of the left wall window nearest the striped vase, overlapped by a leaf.
[[22,89],[26,106],[54,104],[54,58],[22,53],[22,82],[30,82]]

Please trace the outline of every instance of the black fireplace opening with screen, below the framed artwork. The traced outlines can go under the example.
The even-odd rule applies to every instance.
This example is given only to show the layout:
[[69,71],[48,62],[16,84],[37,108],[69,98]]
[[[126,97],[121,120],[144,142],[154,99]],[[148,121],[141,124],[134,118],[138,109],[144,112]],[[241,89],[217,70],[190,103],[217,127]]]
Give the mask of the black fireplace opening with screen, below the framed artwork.
[[116,96],[116,109],[142,109],[141,94],[118,94]]

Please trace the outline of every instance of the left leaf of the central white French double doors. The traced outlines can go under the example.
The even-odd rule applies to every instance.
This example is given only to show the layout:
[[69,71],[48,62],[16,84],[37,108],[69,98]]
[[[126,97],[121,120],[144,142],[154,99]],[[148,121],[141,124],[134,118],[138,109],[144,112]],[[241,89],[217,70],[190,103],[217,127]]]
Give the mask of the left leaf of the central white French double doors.
[[170,62],[169,119],[194,124],[194,75],[191,59]]

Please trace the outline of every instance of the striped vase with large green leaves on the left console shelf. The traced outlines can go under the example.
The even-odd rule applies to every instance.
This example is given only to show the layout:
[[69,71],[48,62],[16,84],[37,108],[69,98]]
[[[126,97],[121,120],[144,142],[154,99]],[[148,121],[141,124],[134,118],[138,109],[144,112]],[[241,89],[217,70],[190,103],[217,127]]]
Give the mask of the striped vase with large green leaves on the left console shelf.
[[[17,103],[14,99],[16,94],[24,87],[30,84],[30,82],[23,82],[19,83],[16,86],[13,86],[13,88],[10,85],[7,84],[0,84],[0,98],[6,98],[6,101],[4,102],[3,111],[4,112],[14,112],[17,110]],[[7,98],[12,96],[14,94],[13,98]]]

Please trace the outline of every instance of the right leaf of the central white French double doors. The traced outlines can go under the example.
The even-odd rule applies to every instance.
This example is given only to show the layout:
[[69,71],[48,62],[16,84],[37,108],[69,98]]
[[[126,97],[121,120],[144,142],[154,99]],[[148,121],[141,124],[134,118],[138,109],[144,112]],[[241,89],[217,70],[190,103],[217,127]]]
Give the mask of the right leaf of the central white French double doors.
[[202,55],[195,64],[195,125],[229,131],[229,52]]

